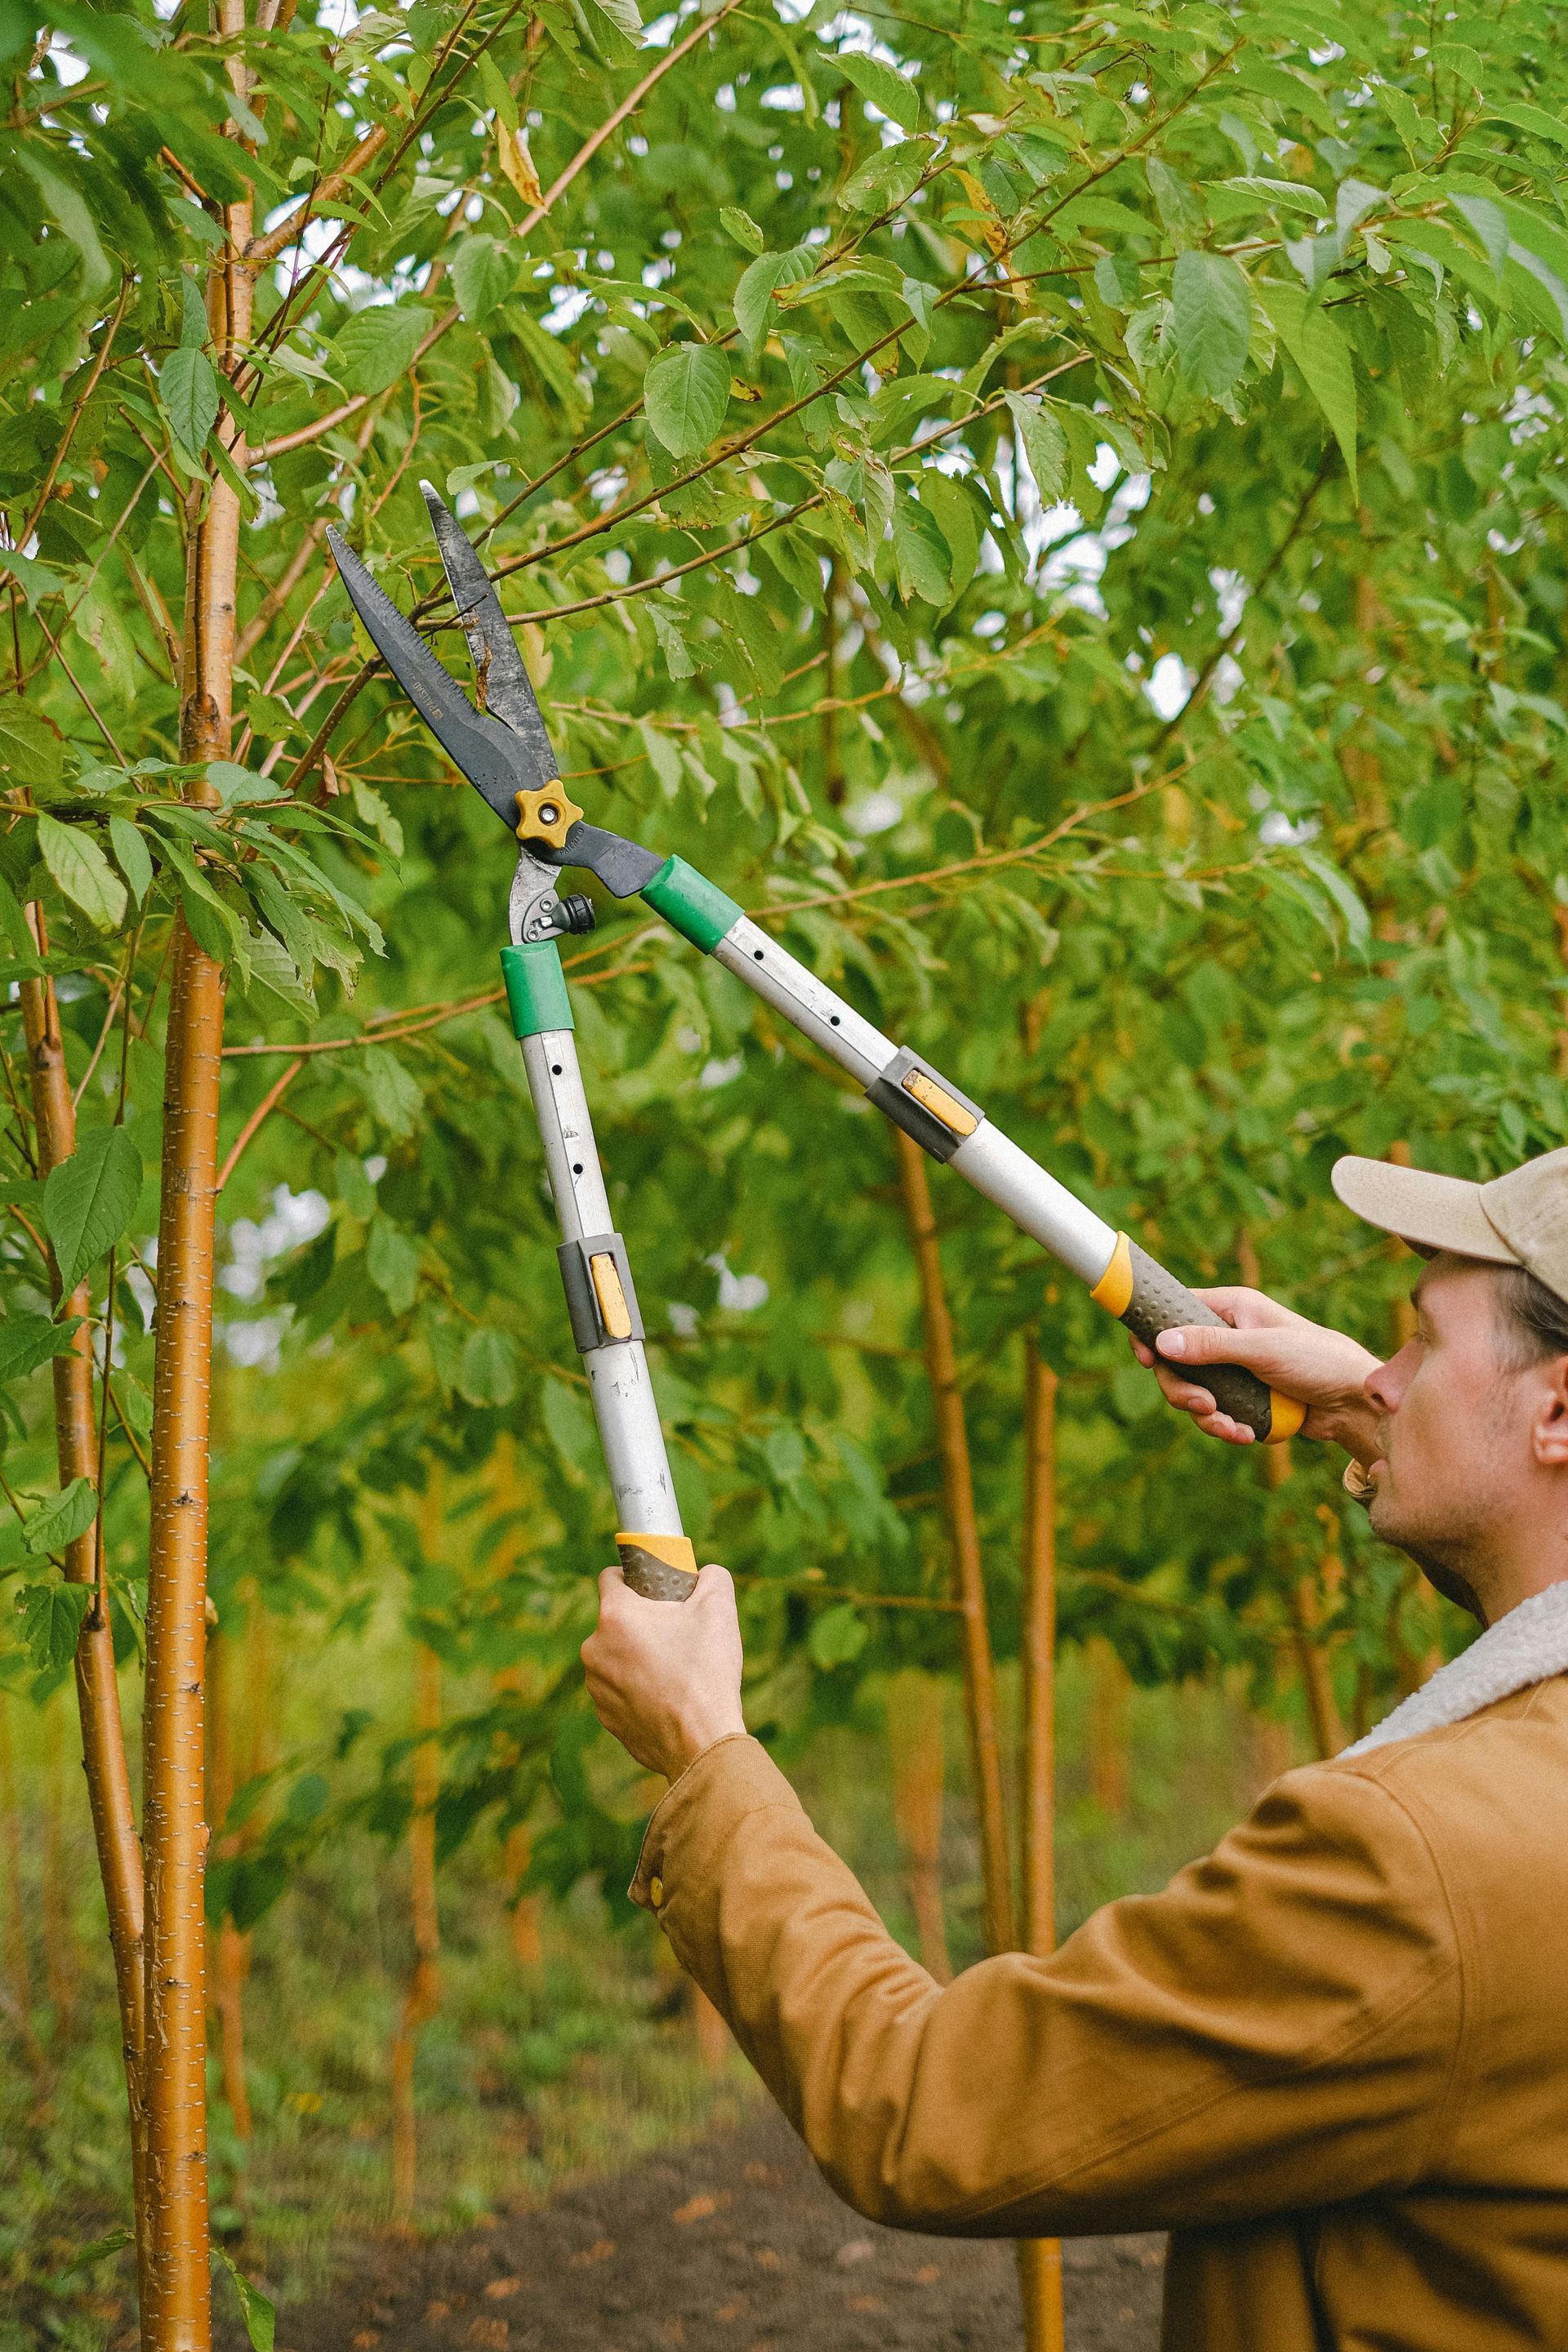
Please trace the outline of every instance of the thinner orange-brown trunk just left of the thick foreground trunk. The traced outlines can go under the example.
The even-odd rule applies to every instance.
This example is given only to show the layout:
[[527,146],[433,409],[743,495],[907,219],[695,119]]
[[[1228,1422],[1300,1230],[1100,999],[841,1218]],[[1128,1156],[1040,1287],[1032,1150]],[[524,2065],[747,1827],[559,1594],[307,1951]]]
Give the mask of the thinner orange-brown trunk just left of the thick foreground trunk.
[[[33,906],[28,917],[40,955],[47,955],[49,934],[42,908]],[[38,1174],[47,1176],[61,1160],[71,1160],[75,1150],[75,1101],[66,1070],[54,981],[21,983],[21,1025],[28,1040],[28,1094],[33,1103]],[[71,1298],[61,1298],[54,1256],[49,1256],[49,1296],[56,1310],[68,1315],[87,1317],[92,1308],[87,1282],[80,1282]],[[71,1348],[54,1357],[54,1461],[61,1486],[68,1486],[78,1477],[89,1479],[94,1486],[99,1484],[92,1371],[92,1329],[82,1319]],[[96,1526],[89,1526],[87,1534],[66,1548],[66,1581],[73,1585],[99,1585]],[[87,1776],[92,1837],[99,1856],[103,1905],[108,1910],[108,1943],[115,1959],[120,2051],[125,2058],[132,2124],[132,2183],[136,2211],[141,2211],[146,2164],[146,2107],[141,2096],[141,2053],[146,2042],[141,1839],[136,1837],[132,1776],[125,1759],[115,1637],[108,1621],[108,1597],[101,1588],[75,1644],[75,1703],[82,1722],[82,1769]]]

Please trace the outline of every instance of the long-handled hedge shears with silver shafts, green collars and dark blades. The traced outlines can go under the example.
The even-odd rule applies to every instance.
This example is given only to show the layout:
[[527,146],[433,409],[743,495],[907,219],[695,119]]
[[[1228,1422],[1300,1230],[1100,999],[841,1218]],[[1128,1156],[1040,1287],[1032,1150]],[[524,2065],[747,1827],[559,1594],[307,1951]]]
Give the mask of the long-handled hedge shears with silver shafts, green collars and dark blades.
[[[1175,1324],[1218,1324],[1222,1317],[1138,1242],[1114,1232],[1048,1176],[952,1080],[872,1028],[693,866],[585,823],[562,788],[496,588],[456,515],[428,482],[421,487],[468,637],[482,708],[447,675],[339,532],[327,532],[327,541],[388,670],[447,757],[520,844],[510,898],[512,943],[501,950],[501,969],[562,1228],[557,1256],[567,1312],[616,1496],[616,1548],[625,1581],[656,1599],[684,1599],[696,1581],[696,1555],[675,1501],[642,1348],[637,1289],[625,1242],[609,1214],[555,946],[571,931],[590,931],[595,910],[585,896],[559,896],[562,868],[597,875],[616,898],[644,898],[682,938],[745,981],[849,1070],[877,1110],[1060,1258],[1088,1284],[1095,1305],[1107,1308],[1140,1341],[1152,1345],[1159,1331]],[[1220,1411],[1255,1437],[1284,1439],[1302,1423],[1302,1406],[1293,1397],[1269,1390],[1241,1364],[1204,1367],[1204,1388]]]

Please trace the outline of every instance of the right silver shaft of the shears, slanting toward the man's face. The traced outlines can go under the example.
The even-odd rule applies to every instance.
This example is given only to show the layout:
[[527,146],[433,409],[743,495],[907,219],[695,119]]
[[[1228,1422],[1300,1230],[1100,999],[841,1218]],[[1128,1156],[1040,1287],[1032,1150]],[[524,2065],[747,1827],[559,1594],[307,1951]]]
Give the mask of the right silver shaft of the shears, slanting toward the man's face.
[[[891,1037],[863,1021],[853,1004],[818,981],[684,858],[665,858],[642,887],[642,896],[693,948],[733,971],[811,1044],[849,1070],[877,1110],[903,1127],[933,1160],[943,1160],[976,1192],[994,1200],[1020,1232],[1088,1284],[1095,1305],[1107,1308],[1140,1341],[1152,1345],[1161,1331],[1178,1324],[1222,1322],[1131,1235],[1117,1232],[1030,1160],[952,1080],[919,1054],[900,1051]],[[1295,1397],[1269,1390],[1241,1364],[1206,1364],[1204,1388],[1220,1411],[1251,1428],[1255,1437],[1279,1442],[1302,1425],[1305,1409]]]

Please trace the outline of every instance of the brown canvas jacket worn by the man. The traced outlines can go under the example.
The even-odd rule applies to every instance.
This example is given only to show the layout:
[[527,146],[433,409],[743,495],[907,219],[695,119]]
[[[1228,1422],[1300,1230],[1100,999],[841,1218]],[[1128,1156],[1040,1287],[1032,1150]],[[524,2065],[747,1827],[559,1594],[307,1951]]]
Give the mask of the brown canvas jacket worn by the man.
[[632,1884],[832,2187],[1173,2230],[1166,2352],[1568,2352],[1568,1677],[1286,1773],[1051,1959],[938,1987],[750,1738]]

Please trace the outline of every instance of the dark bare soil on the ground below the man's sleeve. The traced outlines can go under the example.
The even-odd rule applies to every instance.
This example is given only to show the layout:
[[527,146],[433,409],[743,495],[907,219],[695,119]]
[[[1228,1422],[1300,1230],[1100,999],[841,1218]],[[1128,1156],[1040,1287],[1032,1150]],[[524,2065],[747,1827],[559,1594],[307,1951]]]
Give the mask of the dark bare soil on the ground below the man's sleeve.
[[[1070,2239],[1072,2352],[1154,2352],[1164,2241]],[[1018,2352],[1013,2249],[860,2220],[771,2110],[487,2230],[346,2249],[280,2352]]]

